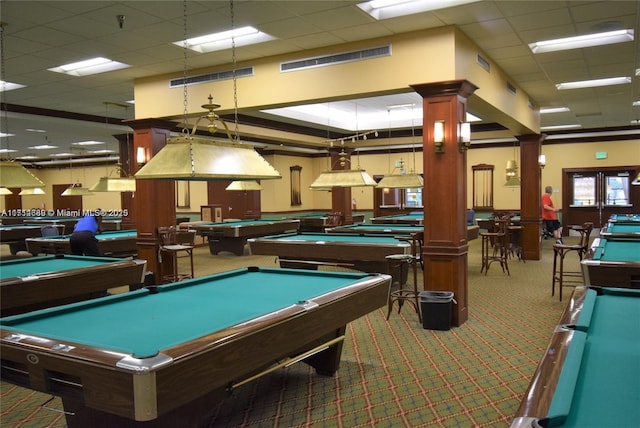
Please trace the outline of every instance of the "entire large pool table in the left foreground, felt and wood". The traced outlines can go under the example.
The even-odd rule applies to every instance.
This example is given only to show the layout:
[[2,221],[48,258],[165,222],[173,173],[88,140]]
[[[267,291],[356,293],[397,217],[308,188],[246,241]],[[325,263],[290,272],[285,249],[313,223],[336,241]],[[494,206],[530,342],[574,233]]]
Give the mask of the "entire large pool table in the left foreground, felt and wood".
[[389,287],[388,275],[250,267],[2,318],[2,380],[61,396],[69,427],[206,426],[260,375],[297,361],[333,375],[347,323],[385,306]]

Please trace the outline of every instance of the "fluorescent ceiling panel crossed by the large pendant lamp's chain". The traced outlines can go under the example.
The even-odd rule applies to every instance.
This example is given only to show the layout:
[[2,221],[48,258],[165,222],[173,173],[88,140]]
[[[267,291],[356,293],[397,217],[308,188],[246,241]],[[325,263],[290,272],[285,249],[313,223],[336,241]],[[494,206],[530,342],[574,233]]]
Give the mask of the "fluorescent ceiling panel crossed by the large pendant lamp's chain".
[[181,48],[186,47],[196,52],[207,53],[230,49],[232,38],[236,46],[254,45],[275,39],[275,37],[263,33],[254,27],[246,26],[236,28],[235,30],[192,37],[187,40],[173,42],[173,44]]

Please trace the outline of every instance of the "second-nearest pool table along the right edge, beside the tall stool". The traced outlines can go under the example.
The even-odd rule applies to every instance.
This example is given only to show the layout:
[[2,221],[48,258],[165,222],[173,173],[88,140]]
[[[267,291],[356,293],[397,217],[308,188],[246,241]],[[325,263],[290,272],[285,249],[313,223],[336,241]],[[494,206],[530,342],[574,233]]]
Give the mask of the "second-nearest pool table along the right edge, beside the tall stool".
[[640,239],[596,238],[581,265],[585,285],[640,288]]

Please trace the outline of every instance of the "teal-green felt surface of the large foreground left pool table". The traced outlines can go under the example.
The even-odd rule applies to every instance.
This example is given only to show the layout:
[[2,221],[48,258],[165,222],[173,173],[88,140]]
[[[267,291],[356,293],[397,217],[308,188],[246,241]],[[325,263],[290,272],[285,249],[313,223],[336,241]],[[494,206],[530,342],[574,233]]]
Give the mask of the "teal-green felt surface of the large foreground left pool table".
[[162,349],[297,305],[367,276],[282,269],[234,271],[216,275],[214,280],[159,286],[156,294],[141,289],[99,304],[83,302],[33,316],[4,318],[0,325],[20,333],[148,358]]

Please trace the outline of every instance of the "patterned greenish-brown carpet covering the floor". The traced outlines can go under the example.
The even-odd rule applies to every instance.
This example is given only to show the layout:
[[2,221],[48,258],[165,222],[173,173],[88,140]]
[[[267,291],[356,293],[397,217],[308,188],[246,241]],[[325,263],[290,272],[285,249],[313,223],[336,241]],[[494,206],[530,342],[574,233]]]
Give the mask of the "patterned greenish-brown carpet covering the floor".
[[[275,259],[214,257],[201,247],[194,262],[202,276]],[[348,325],[336,376],[305,364],[277,370],[213,403],[210,426],[507,427],[570,293],[564,302],[551,296],[552,263],[551,242],[543,241],[541,260],[512,259],[510,276],[494,264],[485,276],[480,241],[471,241],[470,316],[462,326],[426,330],[410,305],[388,321],[378,309]],[[578,268],[577,258],[569,263]],[[64,427],[64,415],[40,407],[48,398],[1,383],[0,425]],[[59,399],[50,404],[61,408]]]

